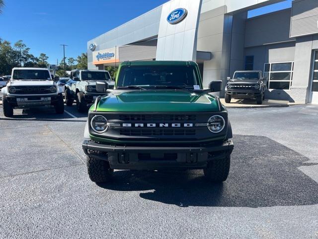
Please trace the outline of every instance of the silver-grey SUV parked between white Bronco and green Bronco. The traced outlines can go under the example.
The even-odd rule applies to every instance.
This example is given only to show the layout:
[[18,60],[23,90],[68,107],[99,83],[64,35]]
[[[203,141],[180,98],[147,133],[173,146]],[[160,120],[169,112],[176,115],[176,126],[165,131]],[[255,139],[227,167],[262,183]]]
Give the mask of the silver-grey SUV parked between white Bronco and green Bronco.
[[105,95],[96,91],[96,82],[107,82],[113,89],[115,82],[108,71],[103,70],[73,70],[65,85],[65,100],[67,106],[72,106],[74,100],[79,112],[86,112],[98,96]]

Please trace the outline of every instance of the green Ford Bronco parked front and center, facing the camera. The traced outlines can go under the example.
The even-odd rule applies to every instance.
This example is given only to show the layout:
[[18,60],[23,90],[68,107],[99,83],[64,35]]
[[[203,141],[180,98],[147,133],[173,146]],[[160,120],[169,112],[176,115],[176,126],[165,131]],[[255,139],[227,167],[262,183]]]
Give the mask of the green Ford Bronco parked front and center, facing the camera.
[[[82,148],[89,178],[107,182],[114,169],[203,169],[211,182],[230,170],[232,128],[213,81],[203,90],[198,65],[190,61],[124,62],[115,88],[91,106]],[[106,93],[107,92],[107,93]]]

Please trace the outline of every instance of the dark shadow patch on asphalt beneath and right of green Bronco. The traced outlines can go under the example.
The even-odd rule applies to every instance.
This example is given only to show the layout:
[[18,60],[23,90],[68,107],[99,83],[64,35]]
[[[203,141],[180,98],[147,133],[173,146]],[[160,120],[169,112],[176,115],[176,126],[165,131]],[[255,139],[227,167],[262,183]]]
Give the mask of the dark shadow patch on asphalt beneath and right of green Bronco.
[[[229,178],[211,184],[202,170],[115,171],[116,191],[141,192],[147,200],[180,207],[273,207],[318,204],[318,184],[298,169],[309,159],[264,136],[235,135]],[[309,164],[307,166],[311,166]]]

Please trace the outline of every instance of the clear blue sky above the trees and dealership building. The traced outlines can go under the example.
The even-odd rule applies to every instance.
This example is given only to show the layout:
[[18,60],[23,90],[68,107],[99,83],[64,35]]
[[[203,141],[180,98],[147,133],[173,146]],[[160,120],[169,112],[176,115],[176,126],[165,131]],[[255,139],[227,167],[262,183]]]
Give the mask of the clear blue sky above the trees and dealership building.
[[[23,40],[30,52],[45,53],[56,64],[86,52],[87,41],[168,0],[4,0],[0,38]],[[291,0],[252,10],[249,17],[291,7]]]

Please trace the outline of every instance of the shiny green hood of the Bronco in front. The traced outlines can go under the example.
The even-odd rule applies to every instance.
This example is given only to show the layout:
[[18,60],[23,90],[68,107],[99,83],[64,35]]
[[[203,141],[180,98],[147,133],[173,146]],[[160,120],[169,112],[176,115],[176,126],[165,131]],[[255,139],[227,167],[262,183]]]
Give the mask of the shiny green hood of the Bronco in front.
[[[93,110],[93,106],[91,108]],[[99,112],[217,112],[216,99],[182,90],[114,91],[102,98]]]

